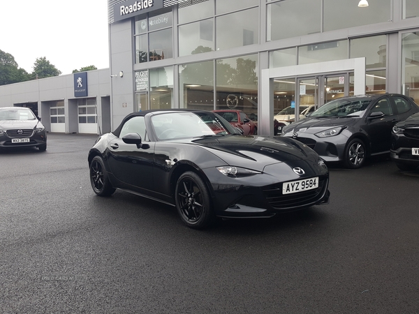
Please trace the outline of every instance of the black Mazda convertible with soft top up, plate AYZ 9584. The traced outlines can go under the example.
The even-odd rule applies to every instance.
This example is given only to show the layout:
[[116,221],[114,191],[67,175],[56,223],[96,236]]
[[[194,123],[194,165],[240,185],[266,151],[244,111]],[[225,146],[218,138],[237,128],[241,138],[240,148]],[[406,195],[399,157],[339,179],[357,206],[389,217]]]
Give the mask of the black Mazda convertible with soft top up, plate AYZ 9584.
[[286,137],[243,136],[218,114],[148,110],[128,114],[89,151],[91,186],[177,208],[189,227],[216,216],[272,217],[328,203],[328,167]]

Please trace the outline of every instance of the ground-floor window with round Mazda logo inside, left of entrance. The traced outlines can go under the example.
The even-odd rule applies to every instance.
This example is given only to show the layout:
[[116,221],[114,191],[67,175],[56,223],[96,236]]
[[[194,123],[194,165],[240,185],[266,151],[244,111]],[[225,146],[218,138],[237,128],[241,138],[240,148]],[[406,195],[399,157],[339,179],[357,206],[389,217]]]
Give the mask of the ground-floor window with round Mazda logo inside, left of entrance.
[[258,55],[216,60],[216,109],[258,114]]

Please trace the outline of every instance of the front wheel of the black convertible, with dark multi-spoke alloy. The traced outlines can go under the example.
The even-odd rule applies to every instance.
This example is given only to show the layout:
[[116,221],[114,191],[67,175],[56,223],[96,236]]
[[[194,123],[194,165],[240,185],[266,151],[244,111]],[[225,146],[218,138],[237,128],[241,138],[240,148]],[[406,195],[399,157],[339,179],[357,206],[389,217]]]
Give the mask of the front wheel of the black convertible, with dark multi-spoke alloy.
[[179,177],[175,201],[177,213],[188,227],[202,229],[214,220],[210,193],[203,179],[195,172],[188,171]]

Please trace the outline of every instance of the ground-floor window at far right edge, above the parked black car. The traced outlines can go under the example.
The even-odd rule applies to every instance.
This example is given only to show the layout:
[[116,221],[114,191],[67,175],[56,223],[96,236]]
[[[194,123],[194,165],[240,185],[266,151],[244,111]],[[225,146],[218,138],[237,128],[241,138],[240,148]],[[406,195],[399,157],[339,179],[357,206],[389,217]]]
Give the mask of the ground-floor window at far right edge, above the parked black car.
[[402,36],[402,91],[419,103],[419,34]]

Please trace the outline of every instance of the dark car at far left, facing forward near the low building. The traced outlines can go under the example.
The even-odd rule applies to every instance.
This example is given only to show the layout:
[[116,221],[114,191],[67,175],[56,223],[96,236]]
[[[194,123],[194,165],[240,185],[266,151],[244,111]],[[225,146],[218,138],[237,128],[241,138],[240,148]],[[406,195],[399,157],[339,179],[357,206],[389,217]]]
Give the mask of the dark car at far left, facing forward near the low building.
[[0,148],[47,149],[47,132],[41,118],[26,107],[0,107]]

